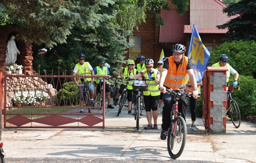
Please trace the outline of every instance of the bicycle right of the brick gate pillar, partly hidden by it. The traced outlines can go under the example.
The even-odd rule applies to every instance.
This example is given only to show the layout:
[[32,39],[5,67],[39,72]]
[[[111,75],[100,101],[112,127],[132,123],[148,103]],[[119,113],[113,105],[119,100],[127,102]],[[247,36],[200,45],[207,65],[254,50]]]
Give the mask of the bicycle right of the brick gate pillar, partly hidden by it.
[[[228,106],[230,113],[230,119],[234,124],[235,128],[239,128],[241,124],[241,114],[237,102],[232,99],[231,92],[233,92],[233,83],[227,83],[227,94],[228,94]],[[240,83],[237,83],[237,89],[240,90]]]

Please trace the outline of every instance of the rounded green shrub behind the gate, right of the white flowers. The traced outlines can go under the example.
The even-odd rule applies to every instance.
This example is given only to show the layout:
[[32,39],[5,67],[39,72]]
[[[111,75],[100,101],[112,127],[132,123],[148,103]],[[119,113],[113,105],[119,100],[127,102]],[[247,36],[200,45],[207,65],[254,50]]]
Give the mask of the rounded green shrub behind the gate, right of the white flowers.
[[78,105],[78,86],[74,82],[63,84],[63,89],[58,91],[58,102],[60,106],[76,106]]

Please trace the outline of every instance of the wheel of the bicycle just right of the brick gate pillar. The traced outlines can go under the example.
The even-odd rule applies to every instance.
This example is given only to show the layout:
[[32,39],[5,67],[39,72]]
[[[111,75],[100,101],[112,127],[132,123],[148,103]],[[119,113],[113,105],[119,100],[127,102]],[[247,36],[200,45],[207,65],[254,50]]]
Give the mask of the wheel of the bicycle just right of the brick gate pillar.
[[240,115],[239,107],[235,100],[232,100],[230,102],[230,118],[235,128],[239,128],[241,124],[241,115]]

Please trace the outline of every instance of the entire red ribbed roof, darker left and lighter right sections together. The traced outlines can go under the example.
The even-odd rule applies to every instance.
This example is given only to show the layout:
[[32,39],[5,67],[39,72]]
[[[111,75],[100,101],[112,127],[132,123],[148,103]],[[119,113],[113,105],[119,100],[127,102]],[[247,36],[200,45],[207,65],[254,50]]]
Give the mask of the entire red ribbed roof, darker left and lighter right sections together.
[[186,41],[186,33],[191,33],[193,24],[199,33],[226,33],[228,29],[218,29],[237,16],[228,17],[223,13],[227,7],[220,0],[190,0],[190,9],[182,16],[176,11],[162,11],[162,17],[167,24],[160,26],[160,43],[177,43]]

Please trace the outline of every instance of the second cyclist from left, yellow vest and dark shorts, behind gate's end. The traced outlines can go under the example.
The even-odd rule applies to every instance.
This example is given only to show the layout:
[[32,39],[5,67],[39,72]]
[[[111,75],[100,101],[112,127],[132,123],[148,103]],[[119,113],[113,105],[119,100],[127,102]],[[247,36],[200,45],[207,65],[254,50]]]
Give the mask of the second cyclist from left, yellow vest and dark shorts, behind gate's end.
[[[111,76],[109,75],[109,70],[108,70],[108,67],[104,66],[105,64],[105,59],[103,58],[100,58],[99,59],[99,66],[95,67],[94,68],[94,74],[95,75],[108,75],[108,77],[110,78]],[[102,79],[102,78],[100,78]],[[100,85],[100,79],[95,79],[95,82],[96,82],[96,91],[99,93],[100,92],[100,89],[101,89],[101,85]],[[105,84],[105,92],[107,93],[107,99],[108,99],[108,107],[107,108],[110,108],[110,109],[113,109],[114,107],[110,104],[110,101],[111,101],[111,87],[109,86],[108,84],[108,81],[106,81],[106,84]]]

